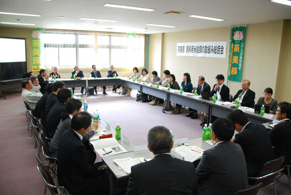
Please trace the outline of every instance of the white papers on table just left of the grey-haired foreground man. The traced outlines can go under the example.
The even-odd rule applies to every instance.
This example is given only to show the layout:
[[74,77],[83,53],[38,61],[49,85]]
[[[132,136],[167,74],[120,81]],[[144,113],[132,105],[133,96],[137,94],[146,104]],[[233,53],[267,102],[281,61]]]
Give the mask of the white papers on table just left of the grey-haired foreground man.
[[124,170],[127,174],[131,173],[131,166],[137,165],[151,159],[146,159],[144,157],[141,158],[121,158],[121,159],[114,159],[113,162],[118,165],[118,167]]

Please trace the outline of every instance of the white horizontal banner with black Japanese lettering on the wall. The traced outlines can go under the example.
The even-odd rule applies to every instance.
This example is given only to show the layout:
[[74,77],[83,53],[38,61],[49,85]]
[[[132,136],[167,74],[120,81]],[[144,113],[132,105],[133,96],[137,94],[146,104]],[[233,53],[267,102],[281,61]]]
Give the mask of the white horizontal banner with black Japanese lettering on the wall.
[[226,41],[177,43],[177,56],[226,58]]

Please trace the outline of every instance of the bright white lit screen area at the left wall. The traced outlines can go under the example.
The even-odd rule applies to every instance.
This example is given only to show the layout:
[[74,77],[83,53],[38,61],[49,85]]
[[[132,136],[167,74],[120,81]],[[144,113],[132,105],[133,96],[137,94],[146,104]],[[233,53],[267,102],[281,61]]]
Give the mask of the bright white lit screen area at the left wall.
[[26,61],[25,39],[0,37],[0,62]]

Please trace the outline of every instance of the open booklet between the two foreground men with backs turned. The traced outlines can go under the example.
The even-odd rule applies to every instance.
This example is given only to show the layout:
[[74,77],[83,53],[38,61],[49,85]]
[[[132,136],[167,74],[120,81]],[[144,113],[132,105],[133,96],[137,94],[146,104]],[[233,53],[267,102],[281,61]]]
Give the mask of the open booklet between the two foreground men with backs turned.
[[181,160],[194,162],[202,158],[203,149],[197,146],[179,146],[171,150],[171,154]]

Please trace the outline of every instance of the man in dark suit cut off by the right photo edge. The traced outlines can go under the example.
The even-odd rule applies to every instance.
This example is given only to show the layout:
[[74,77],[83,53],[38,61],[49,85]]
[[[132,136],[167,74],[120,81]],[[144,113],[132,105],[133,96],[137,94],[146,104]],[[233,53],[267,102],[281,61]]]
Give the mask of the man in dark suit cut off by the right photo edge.
[[291,165],[291,104],[280,102],[276,110],[275,127],[268,132],[275,157],[286,156],[284,165]]

